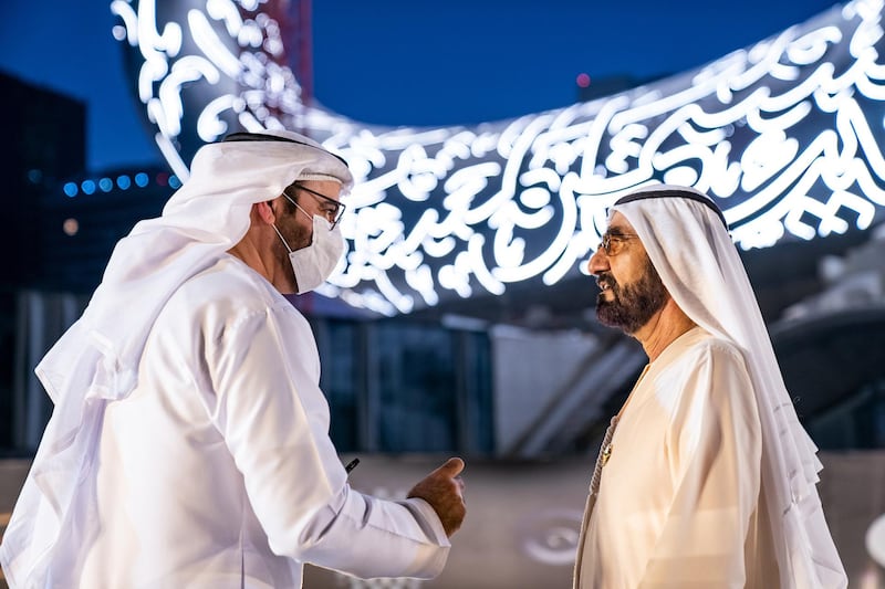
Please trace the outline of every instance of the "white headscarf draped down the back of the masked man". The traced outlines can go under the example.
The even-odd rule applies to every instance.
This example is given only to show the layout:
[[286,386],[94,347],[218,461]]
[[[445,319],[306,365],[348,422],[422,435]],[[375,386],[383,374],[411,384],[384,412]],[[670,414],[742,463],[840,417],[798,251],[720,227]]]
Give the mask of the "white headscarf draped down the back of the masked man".
[[63,561],[66,547],[95,532],[83,498],[92,491],[104,408],[136,387],[160,309],[246,235],[253,203],[309,179],[337,180],[345,190],[353,182],[344,160],[312,139],[233,134],[200,148],[163,215],[139,222],[117,243],[83,316],[37,367],[55,409],[0,546],[8,575],[25,587],[46,587],[53,567],[75,566]]

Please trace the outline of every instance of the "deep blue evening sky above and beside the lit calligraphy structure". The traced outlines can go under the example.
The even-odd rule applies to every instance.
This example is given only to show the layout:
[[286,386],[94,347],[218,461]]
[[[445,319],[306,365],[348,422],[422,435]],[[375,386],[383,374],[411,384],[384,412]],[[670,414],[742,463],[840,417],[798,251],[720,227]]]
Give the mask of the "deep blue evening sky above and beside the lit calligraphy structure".
[[[316,98],[381,125],[511,118],[576,99],[575,78],[688,70],[829,0],[314,1]],[[3,0],[0,71],[86,103],[91,170],[159,162],[111,34],[110,2]]]

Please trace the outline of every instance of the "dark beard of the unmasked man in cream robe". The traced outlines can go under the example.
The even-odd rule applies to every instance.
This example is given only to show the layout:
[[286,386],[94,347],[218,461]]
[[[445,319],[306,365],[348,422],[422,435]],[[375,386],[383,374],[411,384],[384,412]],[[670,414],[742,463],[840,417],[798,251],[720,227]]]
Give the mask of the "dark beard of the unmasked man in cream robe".
[[596,318],[627,334],[638,332],[667,302],[667,288],[648,257],[645,259],[645,272],[633,284],[618,284],[610,272],[601,273],[596,282],[608,284],[612,293],[611,301],[605,299],[604,291],[600,293]]

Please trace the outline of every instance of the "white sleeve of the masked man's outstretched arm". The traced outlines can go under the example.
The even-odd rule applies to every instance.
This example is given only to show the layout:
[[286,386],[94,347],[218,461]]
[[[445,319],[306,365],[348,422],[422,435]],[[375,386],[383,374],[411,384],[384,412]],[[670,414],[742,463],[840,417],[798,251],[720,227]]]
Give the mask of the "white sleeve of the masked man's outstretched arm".
[[306,322],[277,308],[225,332],[206,334],[214,420],[271,549],[363,578],[438,575],[449,541],[428,504],[347,485]]

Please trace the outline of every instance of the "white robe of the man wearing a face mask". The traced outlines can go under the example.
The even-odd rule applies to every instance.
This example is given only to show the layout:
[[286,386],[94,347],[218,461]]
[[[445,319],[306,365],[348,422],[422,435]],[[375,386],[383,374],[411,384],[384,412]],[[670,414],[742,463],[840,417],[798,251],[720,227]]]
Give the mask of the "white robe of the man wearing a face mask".
[[97,535],[55,550],[52,586],[298,588],[302,562],[439,574],[449,541],[427,503],[347,485],[319,377],[306,320],[241,261],[225,254],[186,282],[137,388],[106,406],[72,519],[97,520]]

